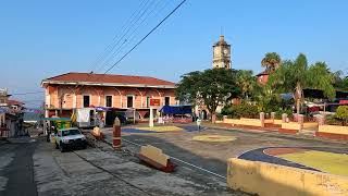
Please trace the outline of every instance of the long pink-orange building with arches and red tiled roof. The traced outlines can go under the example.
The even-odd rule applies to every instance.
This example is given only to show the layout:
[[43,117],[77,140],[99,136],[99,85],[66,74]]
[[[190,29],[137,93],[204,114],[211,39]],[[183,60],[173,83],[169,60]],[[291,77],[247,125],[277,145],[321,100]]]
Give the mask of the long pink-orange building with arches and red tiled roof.
[[66,73],[44,79],[41,86],[46,117],[71,117],[74,109],[104,107],[135,109],[144,119],[150,99],[159,99],[159,107],[177,105],[174,83],[147,76]]

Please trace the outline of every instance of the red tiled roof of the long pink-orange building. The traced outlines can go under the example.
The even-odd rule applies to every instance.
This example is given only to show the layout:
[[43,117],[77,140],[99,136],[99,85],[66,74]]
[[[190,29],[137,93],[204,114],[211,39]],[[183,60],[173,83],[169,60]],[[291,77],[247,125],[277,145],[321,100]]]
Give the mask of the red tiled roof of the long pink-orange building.
[[44,79],[42,82],[85,82],[108,83],[149,86],[175,86],[175,83],[148,76],[94,74],[94,73],[66,73]]

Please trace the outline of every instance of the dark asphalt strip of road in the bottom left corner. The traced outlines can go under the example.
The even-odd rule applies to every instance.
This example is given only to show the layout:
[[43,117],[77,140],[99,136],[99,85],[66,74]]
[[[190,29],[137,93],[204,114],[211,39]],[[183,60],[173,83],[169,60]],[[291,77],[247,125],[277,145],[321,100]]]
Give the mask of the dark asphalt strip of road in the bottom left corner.
[[33,155],[36,143],[0,145],[0,195],[36,196]]

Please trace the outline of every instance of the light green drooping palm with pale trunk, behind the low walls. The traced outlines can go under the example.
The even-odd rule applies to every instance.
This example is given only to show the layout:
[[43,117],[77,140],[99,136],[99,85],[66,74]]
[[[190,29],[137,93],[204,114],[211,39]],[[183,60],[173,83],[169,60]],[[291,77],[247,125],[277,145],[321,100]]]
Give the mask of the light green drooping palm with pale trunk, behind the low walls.
[[284,61],[282,66],[270,75],[269,83],[279,93],[294,94],[297,114],[303,100],[303,88],[314,88],[324,91],[328,98],[334,98],[333,83],[335,75],[330,72],[325,62],[308,65],[304,54],[300,53],[295,61]]

